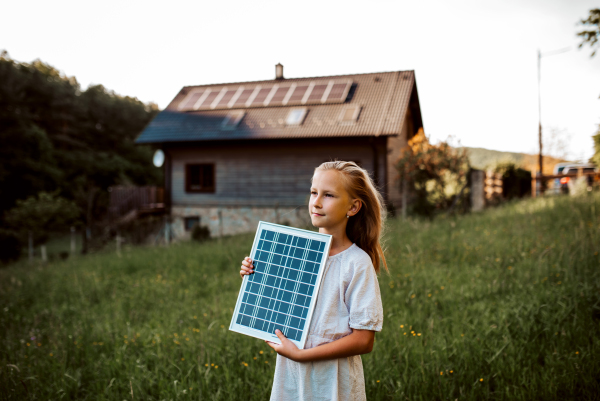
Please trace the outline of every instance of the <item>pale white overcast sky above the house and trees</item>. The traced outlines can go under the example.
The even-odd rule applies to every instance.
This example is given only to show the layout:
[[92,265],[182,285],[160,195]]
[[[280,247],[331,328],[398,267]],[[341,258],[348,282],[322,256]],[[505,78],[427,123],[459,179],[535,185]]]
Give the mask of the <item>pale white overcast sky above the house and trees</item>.
[[591,0],[12,1],[0,49],[86,88],[164,108],[184,85],[414,69],[425,132],[464,146],[537,152],[542,122],[593,153],[600,54],[577,49]]

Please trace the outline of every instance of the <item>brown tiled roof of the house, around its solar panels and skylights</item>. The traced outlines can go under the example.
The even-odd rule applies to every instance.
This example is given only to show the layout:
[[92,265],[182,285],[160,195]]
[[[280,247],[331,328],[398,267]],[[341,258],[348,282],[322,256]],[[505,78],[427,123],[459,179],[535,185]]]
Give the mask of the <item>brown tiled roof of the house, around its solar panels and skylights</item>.
[[[309,102],[305,105],[285,106],[261,104],[259,107],[234,106],[205,110],[190,110],[189,107],[194,103],[190,101],[192,91],[208,93],[206,89],[216,92],[222,88],[236,86],[247,88],[283,83],[295,83],[300,86],[302,83],[325,80],[350,81],[347,96],[339,99],[340,102],[337,103]],[[136,143],[398,135],[413,92],[416,96],[414,71],[185,86],[167,108],[148,124],[136,139]],[[216,101],[218,102],[218,99]],[[418,98],[416,101],[418,102]],[[340,122],[344,109],[354,105],[360,107],[357,121]],[[308,110],[304,122],[297,126],[286,125],[290,110],[299,107],[306,107]],[[243,118],[234,128],[223,128],[223,121],[233,110],[243,111]]]

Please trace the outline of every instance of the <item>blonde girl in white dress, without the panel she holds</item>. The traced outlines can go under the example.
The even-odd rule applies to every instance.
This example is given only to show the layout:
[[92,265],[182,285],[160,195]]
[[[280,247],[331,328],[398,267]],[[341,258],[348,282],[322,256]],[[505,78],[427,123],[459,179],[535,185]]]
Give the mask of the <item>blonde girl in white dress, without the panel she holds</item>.
[[[383,201],[365,170],[333,161],[315,169],[308,211],[319,232],[332,235],[325,275],[305,349],[279,330],[271,400],[365,400],[360,354],[373,349],[383,310],[376,273],[387,269],[379,243]],[[253,273],[252,260],[240,275]]]

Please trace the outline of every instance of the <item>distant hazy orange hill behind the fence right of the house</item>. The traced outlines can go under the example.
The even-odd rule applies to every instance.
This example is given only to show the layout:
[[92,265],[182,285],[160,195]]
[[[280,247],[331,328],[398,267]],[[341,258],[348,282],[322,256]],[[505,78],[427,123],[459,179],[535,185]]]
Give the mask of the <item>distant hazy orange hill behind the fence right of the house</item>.
[[[484,148],[460,147],[465,149],[469,156],[471,166],[476,169],[486,170],[500,163],[514,163],[516,166],[529,171],[537,171],[538,156],[527,153],[501,152]],[[556,159],[552,156],[544,156],[544,174],[552,174],[554,165],[565,160]]]

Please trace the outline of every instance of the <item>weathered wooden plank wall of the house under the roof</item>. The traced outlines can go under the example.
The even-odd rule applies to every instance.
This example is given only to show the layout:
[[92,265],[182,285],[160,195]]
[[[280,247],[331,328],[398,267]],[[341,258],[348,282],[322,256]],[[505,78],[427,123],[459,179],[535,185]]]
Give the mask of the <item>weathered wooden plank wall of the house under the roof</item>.
[[[307,204],[310,178],[324,161],[354,160],[388,182],[387,138],[264,140],[171,145],[173,206],[300,206]],[[376,150],[376,151],[375,151]],[[377,169],[373,163],[378,157]],[[185,165],[214,163],[215,193],[187,193]],[[381,185],[384,184],[384,185]]]

